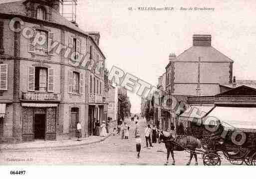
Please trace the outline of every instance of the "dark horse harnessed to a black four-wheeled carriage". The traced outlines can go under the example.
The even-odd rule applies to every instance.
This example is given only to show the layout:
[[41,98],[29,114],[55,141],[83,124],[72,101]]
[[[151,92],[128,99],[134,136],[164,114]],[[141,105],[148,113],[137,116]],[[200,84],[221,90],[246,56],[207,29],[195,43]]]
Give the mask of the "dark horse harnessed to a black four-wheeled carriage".
[[[223,158],[228,160],[231,164],[234,165],[242,165],[244,162],[246,165],[254,165],[256,166],[256,146],[247,146],[247,147],[240,147],[238,149],[234,148],[228,148],[225,145],[224,140],[221,137],[215,137],[215,138],[208,138],[206,141],[202,141],[202,147],[203,149],[198,149],[196,143],[198,143],[198,139],[194,137],[189,136],[183,136],[184,141],[181,145],[181,140],[179,138],[181,136],[178,136],[176,139],[170,139],[167,133],[165,132],[164,136],[166,136],[166,139],[163,141],[167,148],[167,163],[169,154],[168,151],[172,153],[172,157],[174,160],[173,152],[176,151],[187,151],[191,154],[190,161],[187,165],[190,165],[191,159],[193,155],[196,159],[196,165],[197,163],[197,154],[201,154],[203,156],[203,164],[205,166],[217,166],[221,165]],[[194,143],[193,143],[194,141]],[[184,143],[185,142],[185,143]],[[175,164],[175,160],[174,163]]]

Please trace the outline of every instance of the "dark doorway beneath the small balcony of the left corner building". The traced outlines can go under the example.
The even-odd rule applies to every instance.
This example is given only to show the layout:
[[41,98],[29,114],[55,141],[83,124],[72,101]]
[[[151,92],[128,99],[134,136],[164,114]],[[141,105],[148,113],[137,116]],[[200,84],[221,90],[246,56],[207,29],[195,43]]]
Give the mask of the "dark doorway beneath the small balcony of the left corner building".
[[34,139],[45,137],[45,114],[34,115]]

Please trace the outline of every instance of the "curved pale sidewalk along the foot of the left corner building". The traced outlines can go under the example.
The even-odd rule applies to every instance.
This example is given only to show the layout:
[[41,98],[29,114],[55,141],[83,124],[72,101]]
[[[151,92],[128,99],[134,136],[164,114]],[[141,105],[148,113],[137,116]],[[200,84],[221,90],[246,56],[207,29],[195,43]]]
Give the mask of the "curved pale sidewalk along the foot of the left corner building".
[[24,152],[24,151],[40,151],[40,150],[53,150],[63,149],[67,147],[85,146],[89,144],[100,143],[111,136],[109,133],[106,137],[91,136],[82,138],[77,141],[77,138],[63,141],[34,141],[20,144],[0,144],[0,152]]

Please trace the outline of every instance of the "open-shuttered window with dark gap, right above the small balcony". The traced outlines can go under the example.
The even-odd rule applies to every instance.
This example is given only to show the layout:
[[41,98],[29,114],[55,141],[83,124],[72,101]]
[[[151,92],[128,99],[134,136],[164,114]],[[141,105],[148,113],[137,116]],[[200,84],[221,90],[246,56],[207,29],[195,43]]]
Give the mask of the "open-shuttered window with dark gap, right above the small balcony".
[[28,67],[28,91],[54,92],[54,69]]

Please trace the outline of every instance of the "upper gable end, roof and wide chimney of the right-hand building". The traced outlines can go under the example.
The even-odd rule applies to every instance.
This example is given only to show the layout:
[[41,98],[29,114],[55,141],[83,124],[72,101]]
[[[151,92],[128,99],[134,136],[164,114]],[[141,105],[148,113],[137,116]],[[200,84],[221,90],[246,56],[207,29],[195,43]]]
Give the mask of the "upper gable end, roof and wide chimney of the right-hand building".
[[[206,96],[220,93],[219,84],[232,83],[233,60],[211,45],[211,35],[193,35],[193,46],[169,55],[166,91],[170,94]],[[211,74],[211,75],[209,75]]]

